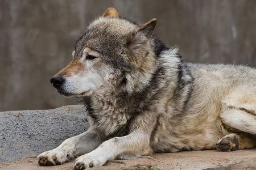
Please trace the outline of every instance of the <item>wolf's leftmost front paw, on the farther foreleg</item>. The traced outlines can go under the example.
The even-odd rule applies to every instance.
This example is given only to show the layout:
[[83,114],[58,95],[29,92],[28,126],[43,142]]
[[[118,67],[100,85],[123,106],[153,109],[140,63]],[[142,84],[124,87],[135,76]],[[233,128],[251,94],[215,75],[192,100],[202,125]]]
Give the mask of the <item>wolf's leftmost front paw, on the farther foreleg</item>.
[[68,161],[69,154],[64,154],[58,150],[43,152],[38,155],[38,163],[42,166],[60,165]]

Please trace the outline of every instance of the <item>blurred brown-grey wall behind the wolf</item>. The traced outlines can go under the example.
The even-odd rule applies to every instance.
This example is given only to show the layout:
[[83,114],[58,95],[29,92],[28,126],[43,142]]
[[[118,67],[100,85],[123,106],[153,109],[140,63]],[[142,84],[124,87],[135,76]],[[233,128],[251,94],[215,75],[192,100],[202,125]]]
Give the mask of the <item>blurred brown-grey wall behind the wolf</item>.
[[139,23],[191,62],[256,67],[254,0],[1,0],[0,111],[76,104],[49,79],[72,59],[73,46],[106,8]]

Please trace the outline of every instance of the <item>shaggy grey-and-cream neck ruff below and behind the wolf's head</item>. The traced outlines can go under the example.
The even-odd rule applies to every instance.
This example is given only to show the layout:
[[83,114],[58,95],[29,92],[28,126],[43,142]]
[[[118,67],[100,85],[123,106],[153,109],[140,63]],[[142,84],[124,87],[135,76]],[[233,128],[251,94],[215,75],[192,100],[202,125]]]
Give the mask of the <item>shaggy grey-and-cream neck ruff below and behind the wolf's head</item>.
[[[189,83],[187,80],[189,79],[187,70],[185,70],[184,66],[185,63],[182,62],[179,54],[177,54],[177,49],[163,50],[159,56],[155,55],[154,57],[158,58],[155,63],[155,70],[148,79],[149,83],[143,87],[143,90],[133,90],[133,88],[137,87],[134,84],[134,87],[128,92],[124,83],[122,84],[123,87],[102,87],[93,96],[81,97],[80,101],[88,108],[88,116],[90,121],[93,122],[93,128],[104,131],[106,137],[127,135],[131,130],[129,123],[141,112],[150,109],[151,105],[155,104],[154,101],[163,95],[167,87],[168,91],[176,91],[177,96],[170,96],[170,99],[176,100],[178,105],[185,105],[189,98],[183,101],[179,97],[185,95],[182,94],[182,88],[185,88],[186,84],[179,87],[180,91],[177,91],[176,80],[164,79],[164,75],[173,76],[177,71],[181,71],[183,74],[180,75],[179,80],[187,84]],[[183,63],[183,67],[177,67],[179,65],[177,63]],[[175,112],[178,112],[180,108],[176,108]]]

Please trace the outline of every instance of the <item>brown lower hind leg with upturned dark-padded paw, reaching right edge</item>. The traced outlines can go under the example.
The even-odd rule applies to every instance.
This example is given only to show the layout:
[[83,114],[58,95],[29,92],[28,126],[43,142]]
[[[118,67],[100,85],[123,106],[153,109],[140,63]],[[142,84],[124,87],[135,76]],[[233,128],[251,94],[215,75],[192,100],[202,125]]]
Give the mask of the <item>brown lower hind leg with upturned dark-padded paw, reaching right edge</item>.
[[237,134],[228,134],[222,137],[216,143],[218,150],[222,151],[234,151],[234,150],[243,150],[245,148],[256,147],[256,138],[253,135],[237,135]]

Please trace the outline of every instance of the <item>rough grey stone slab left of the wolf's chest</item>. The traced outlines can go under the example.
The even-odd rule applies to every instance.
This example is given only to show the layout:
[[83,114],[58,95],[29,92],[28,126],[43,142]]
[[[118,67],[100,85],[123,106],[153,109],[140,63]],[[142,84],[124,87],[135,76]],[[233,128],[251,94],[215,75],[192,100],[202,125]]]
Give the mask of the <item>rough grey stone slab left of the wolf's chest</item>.
[[37,156],[87,128],[82,105],[0,112],[0,163]]

